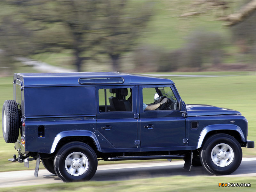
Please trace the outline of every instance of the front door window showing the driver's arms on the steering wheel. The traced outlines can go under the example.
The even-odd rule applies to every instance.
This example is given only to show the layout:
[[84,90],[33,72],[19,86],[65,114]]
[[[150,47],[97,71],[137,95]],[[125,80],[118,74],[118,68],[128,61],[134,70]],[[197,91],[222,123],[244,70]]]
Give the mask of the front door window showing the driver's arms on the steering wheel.
[[177,110],[179,103],[171,87],[143,88],[143,110]]

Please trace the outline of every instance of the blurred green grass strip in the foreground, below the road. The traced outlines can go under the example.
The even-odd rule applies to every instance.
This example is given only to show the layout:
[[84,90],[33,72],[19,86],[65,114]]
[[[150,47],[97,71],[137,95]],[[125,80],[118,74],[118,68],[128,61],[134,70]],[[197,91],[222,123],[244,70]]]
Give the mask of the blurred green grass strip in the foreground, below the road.
[[[185,183],[185,185],[184,185]],[[219,183],[238,183],[238,184],[251,184],[251,187],[219,187]],[[61,192],[96,192],[96,191],[113,191],[113,192],[170,192],[170,191],[255,191],[256,180],[253,177],[187,177],[187,176],[174,176],[174,177],[158,177],[149,179],[136,179],[125,181],[86,181],[74,183],[60,183],[48,184],[38,186],[26,186],[27,191],[61,191]],[[20,187],[15,188],[1,188],[2,192],[12,192],[19,190]]]

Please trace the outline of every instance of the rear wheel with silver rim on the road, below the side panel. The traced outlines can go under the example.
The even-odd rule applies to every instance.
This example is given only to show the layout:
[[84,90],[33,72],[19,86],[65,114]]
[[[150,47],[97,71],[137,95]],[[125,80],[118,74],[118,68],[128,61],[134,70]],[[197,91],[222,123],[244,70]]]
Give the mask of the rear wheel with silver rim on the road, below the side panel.
[[55,173],[64,182],[90,180],[97,166],[95,152],[82,142],[67,143],[58,150],[54,158]]

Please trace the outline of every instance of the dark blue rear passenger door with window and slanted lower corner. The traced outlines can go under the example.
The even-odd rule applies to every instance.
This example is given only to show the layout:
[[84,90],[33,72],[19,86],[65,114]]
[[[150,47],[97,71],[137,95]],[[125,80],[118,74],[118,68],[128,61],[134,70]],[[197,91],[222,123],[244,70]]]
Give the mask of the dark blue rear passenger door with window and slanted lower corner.
[[115,148],[137,148],[135,86],[97,86],[97,130]]

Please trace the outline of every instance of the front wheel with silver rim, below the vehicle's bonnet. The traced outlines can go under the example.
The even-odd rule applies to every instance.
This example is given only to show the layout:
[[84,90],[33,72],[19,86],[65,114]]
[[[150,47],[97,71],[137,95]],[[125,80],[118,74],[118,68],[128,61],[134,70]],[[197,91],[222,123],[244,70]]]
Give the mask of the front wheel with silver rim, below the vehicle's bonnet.
[[238,141],[228,134],[209,137],[201,150],[200,161],[204,168],[214,175],[227,175],[239,167],[242,149]]

